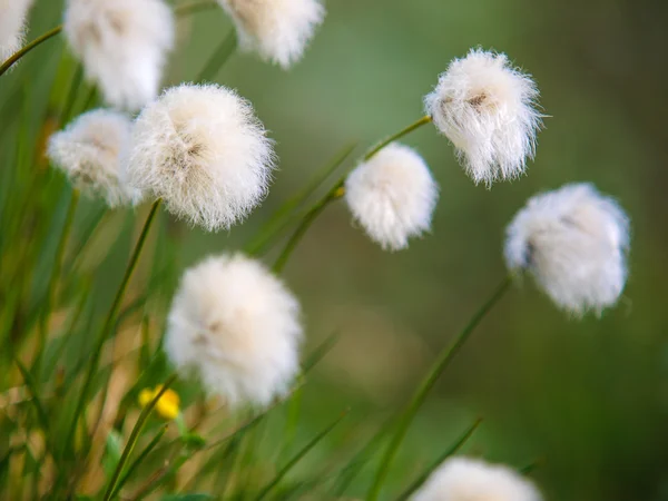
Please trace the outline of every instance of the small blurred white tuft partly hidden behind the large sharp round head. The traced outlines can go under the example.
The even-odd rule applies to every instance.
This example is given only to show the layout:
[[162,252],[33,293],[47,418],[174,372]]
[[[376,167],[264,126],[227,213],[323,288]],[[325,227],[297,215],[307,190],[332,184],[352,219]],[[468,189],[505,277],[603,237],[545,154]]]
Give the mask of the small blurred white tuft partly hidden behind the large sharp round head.
[[120,183],[119,173],[131,127],[120,112],[88,111],[49,138],[47,156],[82,193],[101,196],[110,207],[130,203],[137,193]]

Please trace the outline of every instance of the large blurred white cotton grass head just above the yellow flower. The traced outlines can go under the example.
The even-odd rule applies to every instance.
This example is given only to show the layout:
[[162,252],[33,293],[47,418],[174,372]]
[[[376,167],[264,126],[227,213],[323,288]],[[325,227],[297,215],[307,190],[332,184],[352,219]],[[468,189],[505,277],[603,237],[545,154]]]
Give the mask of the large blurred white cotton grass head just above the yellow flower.
[[299,304],[257,261],[209,257],[174,298],[165,350],[230,405],[267,405],[298,372]]

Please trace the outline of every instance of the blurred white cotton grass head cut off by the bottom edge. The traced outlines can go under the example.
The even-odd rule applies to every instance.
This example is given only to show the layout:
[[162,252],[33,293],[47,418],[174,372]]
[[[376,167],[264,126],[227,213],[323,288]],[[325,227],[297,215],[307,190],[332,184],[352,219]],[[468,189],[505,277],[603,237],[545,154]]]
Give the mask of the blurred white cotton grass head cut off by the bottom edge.
[[540,501],[527,479],[499,464],[468,458],[443,462],[411,501]]

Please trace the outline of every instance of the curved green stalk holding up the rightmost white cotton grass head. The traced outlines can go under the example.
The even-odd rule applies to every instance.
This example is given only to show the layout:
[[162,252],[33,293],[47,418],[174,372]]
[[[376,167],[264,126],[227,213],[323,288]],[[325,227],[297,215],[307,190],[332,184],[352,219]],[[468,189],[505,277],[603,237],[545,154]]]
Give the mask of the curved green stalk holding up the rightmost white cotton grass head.
[[469,338],[473,330],[478,326],[478,324],[484,318],[484,316],[492,310],[501,297],[505,294],[512,283],[512,278],[510,276],[505,277],[503,282],[497,287],[494,293],[490,296],[490,298],[483,303],[483,305],[475,312],[475,314],[471,317],[466,326],[456,335],[454,341],[445,347],[432,365],[432,369],[428,373],[426,377],[422,381],[422,384],[418,387],[418,391],[413,394],[413,397],[409,402],[405,411],[403,412],[396,432],[392,436],[392,441],[385,451],[381,460],[381,465],[376,472],[373,484],[369,491],[369,495],[366,497],[367,501],[375,501],[379,499],[381,493],[381,488],[383,487],[383,482],[387,477],[390,471],[390,465],[392,464],[392,460],[396,455],[399,446],[401,445],[406,432],[409,431],[409,426],[415,418],[415,414],[424,403],[426,395],[434,386],[435,382],[439,380],[445,367],[450,364],[454,355],[460,351],[465,341]]

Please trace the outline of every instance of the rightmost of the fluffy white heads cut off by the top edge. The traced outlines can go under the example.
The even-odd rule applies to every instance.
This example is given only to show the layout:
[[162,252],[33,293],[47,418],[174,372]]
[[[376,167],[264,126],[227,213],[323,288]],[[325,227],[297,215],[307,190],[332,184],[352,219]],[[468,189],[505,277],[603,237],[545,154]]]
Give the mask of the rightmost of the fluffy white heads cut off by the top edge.
[[302,58],[325,9],[318,0],[218,0],[236,24],[239,45],[288,68]]

